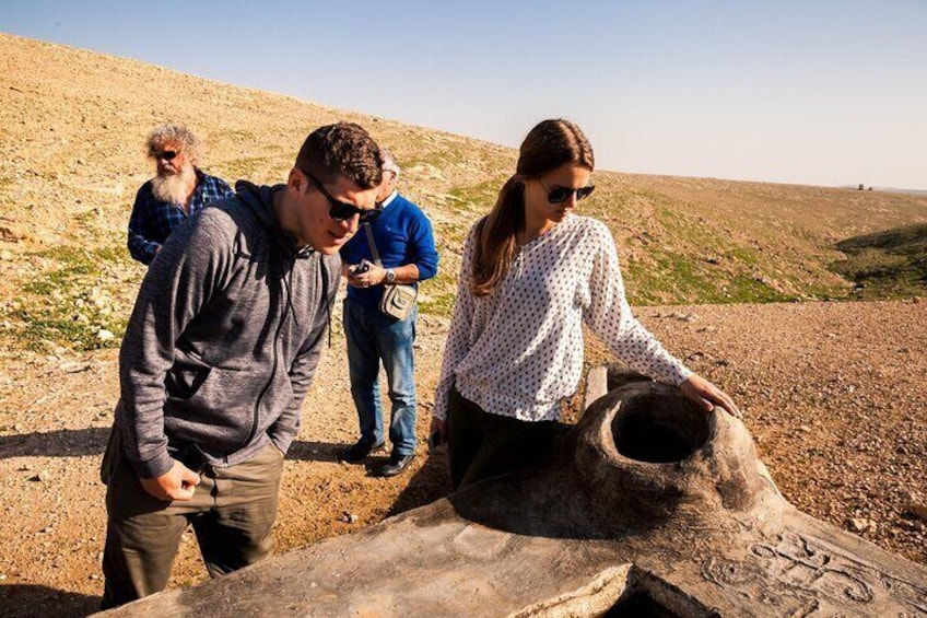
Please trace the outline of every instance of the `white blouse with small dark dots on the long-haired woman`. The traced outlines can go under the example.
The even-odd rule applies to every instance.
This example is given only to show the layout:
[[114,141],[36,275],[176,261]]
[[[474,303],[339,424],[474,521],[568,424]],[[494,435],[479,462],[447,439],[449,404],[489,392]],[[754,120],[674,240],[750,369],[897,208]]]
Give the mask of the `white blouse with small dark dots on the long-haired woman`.
[[520,247],[489,295],[470,292],[474,229],[457,287],[433,415],[451,386],[488,412],[554,420],[583,371],[583,323],[633,369],[678,385],[692,375],[634,317],[606,225],[571,214]]

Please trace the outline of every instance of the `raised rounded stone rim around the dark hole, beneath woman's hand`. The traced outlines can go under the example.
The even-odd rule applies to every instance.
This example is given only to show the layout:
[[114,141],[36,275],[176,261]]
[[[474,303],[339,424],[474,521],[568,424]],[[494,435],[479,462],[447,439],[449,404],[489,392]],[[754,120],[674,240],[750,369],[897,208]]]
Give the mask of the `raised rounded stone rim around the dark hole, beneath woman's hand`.
[[678,388],[624,384],[592,403],[576,432],[587,493],[625,517],[707,525],[721,512],[779,501],[743,423],[704,412]]

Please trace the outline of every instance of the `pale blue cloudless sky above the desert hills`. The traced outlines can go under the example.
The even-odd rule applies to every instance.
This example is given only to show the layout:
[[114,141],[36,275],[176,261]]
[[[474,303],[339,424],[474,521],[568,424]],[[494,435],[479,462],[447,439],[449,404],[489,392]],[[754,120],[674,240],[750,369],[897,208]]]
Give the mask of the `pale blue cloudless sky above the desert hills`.
[[620,172],[927,189],[927,0],[0,0],[0,31]]

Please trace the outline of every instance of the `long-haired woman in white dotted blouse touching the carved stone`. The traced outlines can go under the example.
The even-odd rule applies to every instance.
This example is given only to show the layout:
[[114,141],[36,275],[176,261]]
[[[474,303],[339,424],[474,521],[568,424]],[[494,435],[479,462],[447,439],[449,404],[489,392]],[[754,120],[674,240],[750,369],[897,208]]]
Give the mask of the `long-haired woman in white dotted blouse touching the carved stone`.
[[706,411],[740,416],[631,313],[611,233],[573,213],[595,188],[594,168],[576,125],[544,120],[470,230],[432,416],[455,489],[550,457],[562,401],[579,384],[584,323],[631,368],[679,386]]

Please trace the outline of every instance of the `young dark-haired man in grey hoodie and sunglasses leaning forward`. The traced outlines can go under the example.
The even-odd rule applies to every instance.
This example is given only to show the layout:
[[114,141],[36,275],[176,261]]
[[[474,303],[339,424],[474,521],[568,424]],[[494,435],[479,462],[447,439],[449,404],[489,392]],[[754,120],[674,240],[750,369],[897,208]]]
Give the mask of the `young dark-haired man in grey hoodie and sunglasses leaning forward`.
[[211,576],[270,552],[338,250],[376,208],[382,165],[357,125],[321,127],[285,184],[239,182],[152,263],[122,341],[101,469],[104,608],[163,590],[188,524]]

